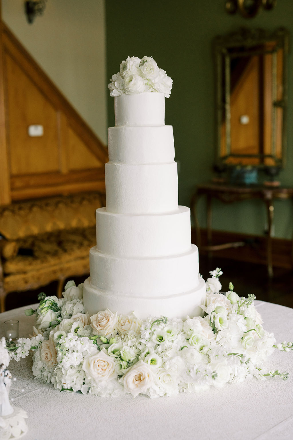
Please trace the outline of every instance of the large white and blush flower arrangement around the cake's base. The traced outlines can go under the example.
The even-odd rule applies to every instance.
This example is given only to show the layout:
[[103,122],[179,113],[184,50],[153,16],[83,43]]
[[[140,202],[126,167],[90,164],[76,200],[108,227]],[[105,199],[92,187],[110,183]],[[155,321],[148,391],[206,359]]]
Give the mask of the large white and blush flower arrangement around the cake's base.
[[239,297],[232,283],[226,295],[215,293],[222,272],[210,273],[204,317],[185,321],[160,316],[142,322],[108,309],[90,317],[84,313],[82,284],[70,281],[62,299],[41,297],[37,310],[26,311],[37,315],[34,335],[8,341],[10,356],[19,360],[32,350],[36,378],[61,391],[102,397],[128,392],[154,398],[245,378],[287,379],[265,362],[275,348],[293,350],[293,343],[276,344],[263,329],[254,295]]

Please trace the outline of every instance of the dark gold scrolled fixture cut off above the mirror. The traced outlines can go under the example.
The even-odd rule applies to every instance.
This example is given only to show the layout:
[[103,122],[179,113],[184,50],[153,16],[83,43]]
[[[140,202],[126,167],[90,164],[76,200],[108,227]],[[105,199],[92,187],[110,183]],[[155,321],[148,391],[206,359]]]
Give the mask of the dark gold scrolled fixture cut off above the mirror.
[[261,7],[270,11],[275,7],[277,0],[226,0],[225,9],[228,14],[240,12],[242,17],[254,17]]

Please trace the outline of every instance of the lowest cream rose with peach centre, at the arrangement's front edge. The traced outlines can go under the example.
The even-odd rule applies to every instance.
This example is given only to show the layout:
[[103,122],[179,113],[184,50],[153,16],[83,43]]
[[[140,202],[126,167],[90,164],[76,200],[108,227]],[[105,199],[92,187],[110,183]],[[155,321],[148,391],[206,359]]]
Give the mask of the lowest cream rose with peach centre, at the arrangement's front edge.
[[152,385],[154,378],[151,367],[140,360],[124,374],[122,381],[125,391],[136,397],[140,392],[146,392]]

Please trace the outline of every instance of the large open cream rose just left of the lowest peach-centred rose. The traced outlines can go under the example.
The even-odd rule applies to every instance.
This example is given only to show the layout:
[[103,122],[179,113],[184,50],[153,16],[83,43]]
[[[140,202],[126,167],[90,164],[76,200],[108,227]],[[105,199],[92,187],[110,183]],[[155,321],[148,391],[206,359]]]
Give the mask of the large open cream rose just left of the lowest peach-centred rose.
[[109,356],[104,348],[92,356],[85,356],[82,369],[96,382],[100,380],[111,380],[117,376],[115,358]]

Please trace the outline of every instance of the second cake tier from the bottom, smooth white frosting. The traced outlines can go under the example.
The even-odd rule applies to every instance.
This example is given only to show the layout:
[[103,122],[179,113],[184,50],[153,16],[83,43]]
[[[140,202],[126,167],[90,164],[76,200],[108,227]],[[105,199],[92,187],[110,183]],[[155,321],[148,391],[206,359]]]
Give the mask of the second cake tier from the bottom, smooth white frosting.
[[121,295],[156,296],[192,290],[198,279],[198,249],[167,257],[118,257],[89,251],[93,286]]

